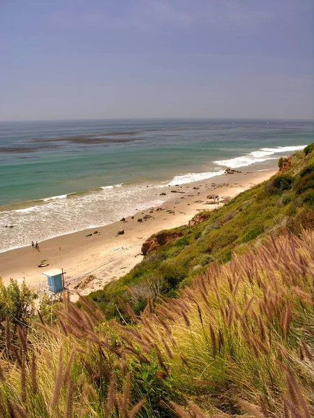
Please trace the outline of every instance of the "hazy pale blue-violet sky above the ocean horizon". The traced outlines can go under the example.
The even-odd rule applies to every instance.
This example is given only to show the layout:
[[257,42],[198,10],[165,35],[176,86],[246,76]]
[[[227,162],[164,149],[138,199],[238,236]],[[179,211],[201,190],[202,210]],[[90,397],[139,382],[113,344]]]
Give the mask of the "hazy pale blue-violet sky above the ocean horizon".
[[0,120],[313,118],[312,0],[0,0]]

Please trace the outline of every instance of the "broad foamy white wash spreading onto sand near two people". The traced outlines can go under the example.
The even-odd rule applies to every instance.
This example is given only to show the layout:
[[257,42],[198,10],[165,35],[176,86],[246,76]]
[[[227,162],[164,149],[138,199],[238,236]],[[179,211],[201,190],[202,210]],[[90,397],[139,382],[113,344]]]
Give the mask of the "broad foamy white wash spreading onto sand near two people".
[[154,187],[126,185],[119,192],[116,187],[98,189],[76,194],[72,199],[42,200],[41,204],[29,208],[0,211],[0,228],[14,226],[1,236],[0,252],[25,247],[31,240],[40,242],[111,224],[121,217],[159,206],[169,198],[170,195],[163,199]]

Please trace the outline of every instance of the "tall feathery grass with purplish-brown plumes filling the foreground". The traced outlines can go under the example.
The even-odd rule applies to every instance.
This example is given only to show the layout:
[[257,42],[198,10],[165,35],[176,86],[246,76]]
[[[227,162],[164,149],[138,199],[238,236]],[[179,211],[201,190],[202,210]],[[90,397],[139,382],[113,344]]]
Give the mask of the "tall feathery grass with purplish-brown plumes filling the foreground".
[[313,267],[311,231],[212,263],[128,325],[66,300],[54,325],[7,330],[1,417],[310,418]]

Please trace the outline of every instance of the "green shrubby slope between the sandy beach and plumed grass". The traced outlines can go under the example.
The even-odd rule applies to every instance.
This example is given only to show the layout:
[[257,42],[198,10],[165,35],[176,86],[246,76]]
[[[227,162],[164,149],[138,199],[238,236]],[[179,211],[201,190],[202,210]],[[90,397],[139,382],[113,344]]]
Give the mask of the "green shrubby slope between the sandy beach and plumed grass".
[[298,235],[302,228],[314,228],[314,144],[279,160],[279,166],[282,173],[239,194],[223,208],[206,212],[202,224],[172,230],[183,236],[145,256],[103,291],[91,293],[92,300],[107,318],[125,317],[125,303],[139,314],[149,295],[153,300],[177,295],[210,263],[230,261],[234,251],[244,254],[269,234],[276,237],[289,231]]

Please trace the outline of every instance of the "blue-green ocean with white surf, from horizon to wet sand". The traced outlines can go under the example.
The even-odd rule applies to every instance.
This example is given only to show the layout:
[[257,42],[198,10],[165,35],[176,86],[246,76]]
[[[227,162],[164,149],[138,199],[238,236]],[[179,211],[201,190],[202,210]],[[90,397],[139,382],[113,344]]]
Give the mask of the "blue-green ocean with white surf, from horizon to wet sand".
[[0,252],[110,224],[226,167],[274,169],[313,132],[312,121],[0,122]]

